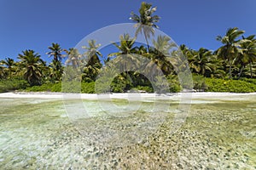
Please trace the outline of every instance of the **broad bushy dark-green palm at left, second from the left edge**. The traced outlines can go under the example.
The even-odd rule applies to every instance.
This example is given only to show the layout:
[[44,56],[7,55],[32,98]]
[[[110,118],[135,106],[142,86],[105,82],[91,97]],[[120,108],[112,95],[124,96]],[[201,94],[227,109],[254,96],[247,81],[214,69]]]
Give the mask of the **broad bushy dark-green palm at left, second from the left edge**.
[[20,66],[24,70],[24,77],[27,82],[33,85],[40,85],[42,80],[42,69],[44,67],[44,61],[40,58],[39,54],[35,54],[33,50],[22,51],[19,54]]

